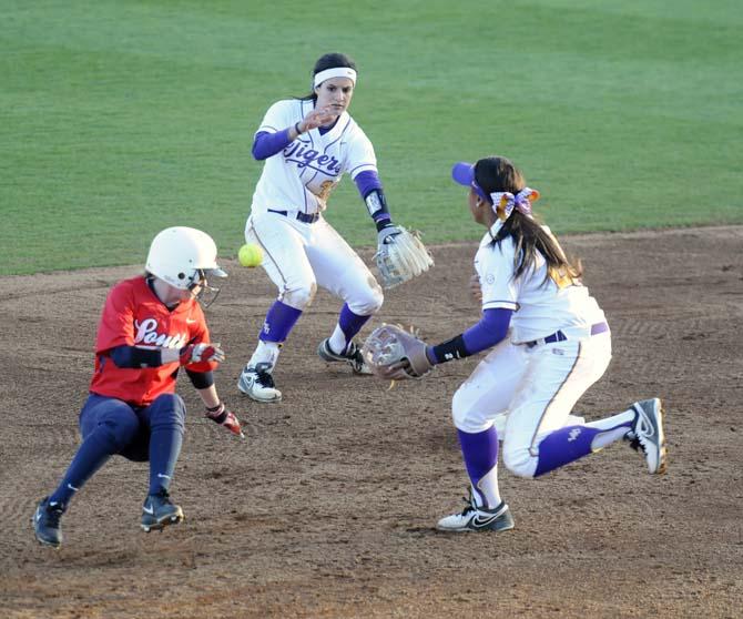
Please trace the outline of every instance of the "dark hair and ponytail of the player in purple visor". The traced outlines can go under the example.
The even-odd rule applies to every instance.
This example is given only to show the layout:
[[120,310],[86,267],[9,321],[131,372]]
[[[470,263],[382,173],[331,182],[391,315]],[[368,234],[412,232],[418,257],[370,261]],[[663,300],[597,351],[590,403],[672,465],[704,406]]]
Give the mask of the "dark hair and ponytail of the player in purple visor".
[[[507,191],[516,195],[527,186],[521,172],[506,158],[489,156],[475,164],[475,181],[486,193]],[[547,232],[541,223],[515,209],[492,240],[493,245],[510,236],[516,245],[513,278],[537,264],[537,252],[547,262],[547,276],[562,287],[579,283],[583,273],[580,261],[570,262],[557,239]]]

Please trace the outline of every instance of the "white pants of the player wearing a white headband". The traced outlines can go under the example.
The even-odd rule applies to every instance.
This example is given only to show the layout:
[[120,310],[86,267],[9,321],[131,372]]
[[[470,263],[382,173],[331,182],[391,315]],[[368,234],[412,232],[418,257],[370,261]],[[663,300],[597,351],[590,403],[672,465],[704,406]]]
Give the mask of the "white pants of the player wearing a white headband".
[[335,229],[319,217],[314,223],[278,213],[252,213],[245,240],[263,248],[263,267],[278,287],[278,300],[304,311],[317,286],[339,298],[359,316],[381,307],[381,287],[364,261]]

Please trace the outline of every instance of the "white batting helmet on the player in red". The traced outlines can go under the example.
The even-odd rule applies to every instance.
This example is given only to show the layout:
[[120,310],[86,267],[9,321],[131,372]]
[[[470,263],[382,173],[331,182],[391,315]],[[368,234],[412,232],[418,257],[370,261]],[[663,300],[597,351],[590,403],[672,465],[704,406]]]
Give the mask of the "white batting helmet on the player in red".
[[203,280],[227,276],[216,264],[216,245],[212,237],[185,226],[167,227],[153,239],[145,268],[184,291]]

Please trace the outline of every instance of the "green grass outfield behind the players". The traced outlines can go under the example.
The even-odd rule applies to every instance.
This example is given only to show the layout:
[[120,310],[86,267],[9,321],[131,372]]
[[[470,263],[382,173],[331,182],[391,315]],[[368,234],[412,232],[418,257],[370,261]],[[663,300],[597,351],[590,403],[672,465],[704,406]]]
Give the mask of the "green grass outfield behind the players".
[[[243,243],[253,133],[327,51],[396,221],[477,239],[451,163],[511,158],[558,232],[743,223],[739,0],[0,0],[2,272],[135,264],[169,225]],[[375,229],[346,179],[328,220]]]

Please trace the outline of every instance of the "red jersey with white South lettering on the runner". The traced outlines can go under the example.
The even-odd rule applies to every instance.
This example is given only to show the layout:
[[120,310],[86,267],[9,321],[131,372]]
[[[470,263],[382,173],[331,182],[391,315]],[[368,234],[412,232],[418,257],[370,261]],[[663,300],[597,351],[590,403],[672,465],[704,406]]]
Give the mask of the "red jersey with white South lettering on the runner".
[[[174,310],[169,310],[143,276],[124,280],[111,288],[103,306],[90,390],[135,406],[147,406],[157,396],[175,392],[179,363],[160,367],[118,367],[106,352],[116,346],[182,348],[201,342],[208,343],[210,335],[197,301],[183,301]],[[194,372],[210,372],[216,364],[196,363],[187,367]]]

